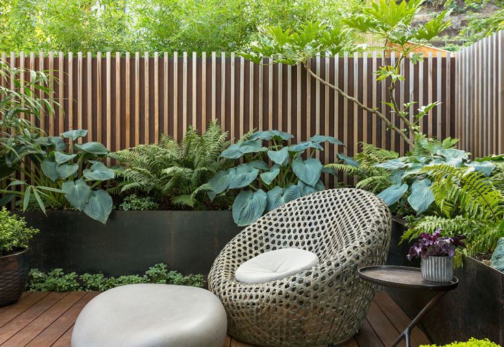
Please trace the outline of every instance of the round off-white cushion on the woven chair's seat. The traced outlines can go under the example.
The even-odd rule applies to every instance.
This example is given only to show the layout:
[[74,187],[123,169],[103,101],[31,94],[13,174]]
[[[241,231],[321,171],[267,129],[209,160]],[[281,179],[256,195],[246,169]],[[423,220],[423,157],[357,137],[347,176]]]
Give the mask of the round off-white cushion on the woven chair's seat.
[[316,254],[299,248],[283,248],[259,254],[244,262],[235,272],[243,283],[264,283],[299,274],[318,264]]

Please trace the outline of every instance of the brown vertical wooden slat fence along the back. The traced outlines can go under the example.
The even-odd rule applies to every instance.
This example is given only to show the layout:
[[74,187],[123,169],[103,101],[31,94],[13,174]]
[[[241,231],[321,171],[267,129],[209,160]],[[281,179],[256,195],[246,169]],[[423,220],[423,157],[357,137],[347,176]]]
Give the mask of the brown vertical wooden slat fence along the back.
[[[470,49],[459,57],[465,59],[468,52]],[[350,156],[355,154],[359,141],[401,153],[408,149],[375,115],[363,112],[316,81],[301,66],[263,66],[224,52],[205,53],[201,58],[186,52],[171,55],[107,52],[104,57],[102,53],[96,57],[77,53],[77,58],[72,53],[66,57],[62,53],[49,56],[30,53],[22,58],[13,53],[5,59],[15,66],[21,63],[32,69],[51,68],[51,74],[60,80],[53,97],[62,110],[56,112],[54,119],[45,117],[37,121],[40,127],[51,134],[85,128],[88,136],[84,141],[101,141],[112,151],[156,142],[163,132],[180,140],[187,125],[201,129],[214,119],[233,138],[252,128],[275,128],[292,132],[295,141],[304,141],[316,132],[344,141],[345,148],[326,145],[327,152],[320,154],[325,162],[334,160],[336,150]],[[363,57],[344,54],[314,58],[311,64],[325,81],[389,114],[390,108],[382,102],[388,100],[386,86],[377,83],[373,74],[388,59],[396,57],[383,58],[376,52]],[[465,121],[454,117],[455,88],[451,86],[456,86],[459,92],[465,89],[460,80],[455,84],[455,69],[460,73],[464,67],[453,60],[429,56],[426,62],[416,65],[406,60],[403,66],[406,80],[395,91],[401,103],[410,99],[419,101],[410,107],[413,112],[427,101],[442,102],[422,122],[422,128],[433,136],[455,136]],[[496,60],[501,71],[500,55]],[[501,112],[499,106],[495,109]],[[462,107],[457,104],[457,114],[460,110]],[[475,110],[471,108],[471,112]],[[402,125],[399,119],[395,124]],[[502,126],[502,121],[499,124]]]

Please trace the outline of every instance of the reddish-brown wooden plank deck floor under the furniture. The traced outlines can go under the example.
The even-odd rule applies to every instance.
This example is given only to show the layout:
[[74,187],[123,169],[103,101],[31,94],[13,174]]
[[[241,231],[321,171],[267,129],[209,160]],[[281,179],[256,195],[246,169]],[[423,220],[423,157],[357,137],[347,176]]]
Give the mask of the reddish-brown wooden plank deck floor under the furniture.
[[[97,292],[70,291],[27,292],[21,300],[0,307],[0,346],[70,346],[72,328],[77,315]],[[407,325],[407,315],[396,303],[379,291],[360,333],[345,347],[390,346]],[[420,329],[412,333],[412,346],[429,340]],[[403,342],[399,346],[405,346]],[[227,337],[224,347],[251,347]]]

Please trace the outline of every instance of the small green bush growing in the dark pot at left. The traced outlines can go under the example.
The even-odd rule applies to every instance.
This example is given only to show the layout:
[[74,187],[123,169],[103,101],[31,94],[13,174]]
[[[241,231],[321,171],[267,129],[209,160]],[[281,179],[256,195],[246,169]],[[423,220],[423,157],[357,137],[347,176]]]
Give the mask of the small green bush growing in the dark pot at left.
[[3,207],[0,210],[0,256],[23,250],[38,229],[26,226],[24,217],[10,213]]

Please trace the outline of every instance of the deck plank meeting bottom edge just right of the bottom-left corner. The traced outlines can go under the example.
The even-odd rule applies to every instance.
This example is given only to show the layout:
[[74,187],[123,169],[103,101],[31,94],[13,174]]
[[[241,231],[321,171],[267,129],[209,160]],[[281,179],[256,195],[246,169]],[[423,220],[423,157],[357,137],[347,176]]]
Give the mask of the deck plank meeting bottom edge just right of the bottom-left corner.
[[5,342],[5,346],[26,346],[37,335],[42,333],[55,320],[61,317],[68,309],[79,301],[86,293],[84,291],[71,291],[60,301],[56,302],[47,311],[22,328],[16,335],[12,336]]

